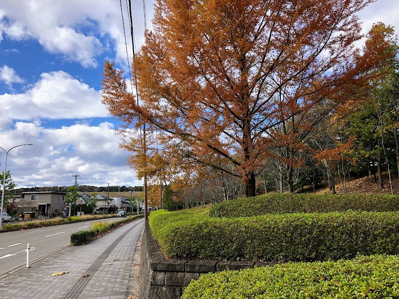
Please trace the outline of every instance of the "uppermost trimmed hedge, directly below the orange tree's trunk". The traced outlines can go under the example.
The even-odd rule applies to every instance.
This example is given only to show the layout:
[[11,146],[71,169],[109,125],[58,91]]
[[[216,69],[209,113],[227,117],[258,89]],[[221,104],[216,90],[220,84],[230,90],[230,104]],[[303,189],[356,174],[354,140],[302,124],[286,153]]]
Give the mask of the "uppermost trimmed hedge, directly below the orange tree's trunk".
[[320,213],[344,212],[348,210],[369,212],[398,211],[399,196],[270,193],[221,202],[210,209],[209,216],[232,218],[265,215],[268,213]]

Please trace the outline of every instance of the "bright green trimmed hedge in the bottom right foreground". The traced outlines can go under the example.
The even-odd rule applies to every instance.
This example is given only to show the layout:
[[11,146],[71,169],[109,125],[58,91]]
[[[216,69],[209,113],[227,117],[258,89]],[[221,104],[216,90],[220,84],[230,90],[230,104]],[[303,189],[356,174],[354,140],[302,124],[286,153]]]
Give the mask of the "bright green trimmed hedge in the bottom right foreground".
[[399,257],[361,256],[209,273],[193,280],[181,298],[399,298]]

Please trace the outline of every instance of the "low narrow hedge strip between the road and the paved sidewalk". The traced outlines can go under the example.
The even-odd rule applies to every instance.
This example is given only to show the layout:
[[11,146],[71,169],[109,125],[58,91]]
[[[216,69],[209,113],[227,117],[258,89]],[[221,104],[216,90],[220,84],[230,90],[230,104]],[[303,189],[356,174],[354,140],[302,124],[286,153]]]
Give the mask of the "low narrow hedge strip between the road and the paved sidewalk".
[[[89,229],[87,231],[79,231],[76,233],[71,234],[71,245],[72,246],[79,246],[79,245],[84,245],[91,239],[97,237],[98,235],[105,233],[107,231],[113,230],[114,228],[117,228],[118,226],[124,224],[124,223],[129,223],[132,222],[138,218],[142,218],[143,216],[134,216],[134,217],[127,217],[119,221],[114,221],[114,222],[107,222],[107,223],[94,223],[92,226],[92,229]],[[105,224],[105,225],[101,225]]]

